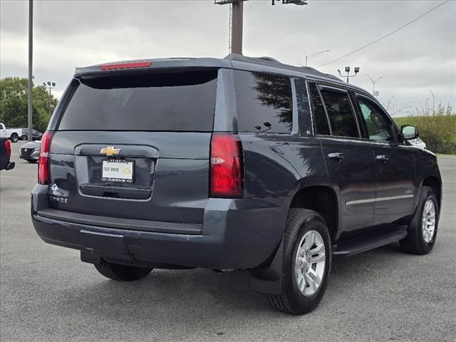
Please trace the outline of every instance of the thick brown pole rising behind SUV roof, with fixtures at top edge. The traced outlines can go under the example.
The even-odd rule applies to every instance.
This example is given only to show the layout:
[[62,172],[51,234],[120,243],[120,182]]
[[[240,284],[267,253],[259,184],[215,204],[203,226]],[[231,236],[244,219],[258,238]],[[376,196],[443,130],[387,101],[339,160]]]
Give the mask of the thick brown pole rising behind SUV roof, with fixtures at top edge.
[[[242,55],[242,21],[244,18],[244,1],[247,0],[214,0],[216,5],[232,6],[231,12],[231,51],[229,53],[239,53]],[[271,0],[275,5],[276,0]],[[306,5],[303,0],[282,0],[282,4]]]

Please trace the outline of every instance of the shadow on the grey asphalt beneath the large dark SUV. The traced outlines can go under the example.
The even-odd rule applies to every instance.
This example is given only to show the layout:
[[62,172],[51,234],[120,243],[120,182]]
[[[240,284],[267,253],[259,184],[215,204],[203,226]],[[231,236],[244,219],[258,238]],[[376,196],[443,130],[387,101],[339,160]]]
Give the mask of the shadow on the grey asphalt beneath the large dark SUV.
[[[356,286],[371,281],[370,271],[385,269],[388,274],[401,257],[398,254],[403,256],[398,244],[391,244],[359,256],[335,259],[328,291],[316,311],[326,311],[325,303],[350,296]],[[117,282],[98,275],[91,265],[84,267],[85,276],[96,281],[68,296],[66,305],[58,307],[66,311],[61,312],[63,315],[83,314],[120,323],[126,319],[139,325],[151,320],[165,324],[172,317],[187,328],[199,326],[198,320],[207,324],[223,319],[230,312],[246,318],[261,315],[266,320],[284,316],[269,307],[263,294],[249,291],[248,272],[157,269],[140,281]]]

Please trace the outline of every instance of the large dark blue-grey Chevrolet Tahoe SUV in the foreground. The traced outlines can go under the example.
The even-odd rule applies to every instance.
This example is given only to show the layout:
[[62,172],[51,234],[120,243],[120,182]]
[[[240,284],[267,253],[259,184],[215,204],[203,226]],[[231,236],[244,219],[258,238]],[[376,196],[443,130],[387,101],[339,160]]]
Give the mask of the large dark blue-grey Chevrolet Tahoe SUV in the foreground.
[[435,155],[366,90],[272,58],[165,58],[76,69],[31,212],[45,242],[110,279],[242,269],[304,314],[333,257],[430,252],[441,189]]

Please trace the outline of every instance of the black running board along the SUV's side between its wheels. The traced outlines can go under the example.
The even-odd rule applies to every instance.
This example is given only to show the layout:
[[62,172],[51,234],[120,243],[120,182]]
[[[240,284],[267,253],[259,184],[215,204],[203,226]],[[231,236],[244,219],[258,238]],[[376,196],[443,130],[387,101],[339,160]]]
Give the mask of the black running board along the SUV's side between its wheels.
[[350,257],[354,254],[362,253],[385,246],[392,242],[399,241],[407,236],[407,226],[400,226],[394,230],[388,230],[361,237],[358,239],[341,242],[333,245],[334,257]]

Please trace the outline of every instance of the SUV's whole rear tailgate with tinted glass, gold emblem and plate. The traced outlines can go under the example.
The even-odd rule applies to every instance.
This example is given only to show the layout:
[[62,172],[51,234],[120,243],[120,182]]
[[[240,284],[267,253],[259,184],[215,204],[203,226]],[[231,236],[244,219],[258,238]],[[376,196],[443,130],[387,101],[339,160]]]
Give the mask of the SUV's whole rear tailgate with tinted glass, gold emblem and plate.
[[51,144],[51,208],[202,223],[217,70],[73,81]]

